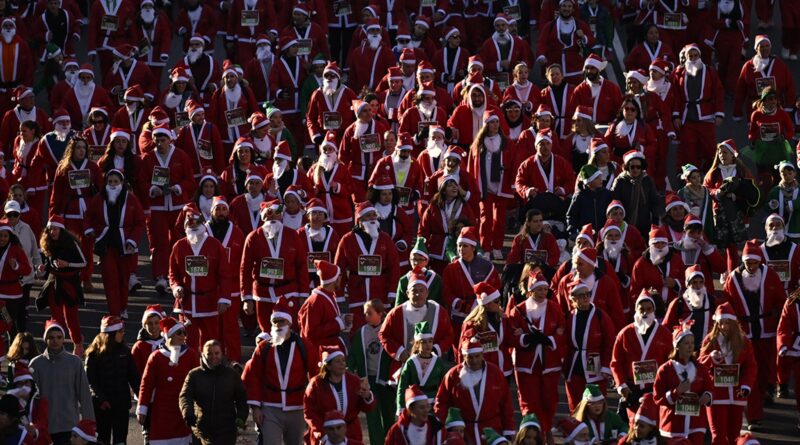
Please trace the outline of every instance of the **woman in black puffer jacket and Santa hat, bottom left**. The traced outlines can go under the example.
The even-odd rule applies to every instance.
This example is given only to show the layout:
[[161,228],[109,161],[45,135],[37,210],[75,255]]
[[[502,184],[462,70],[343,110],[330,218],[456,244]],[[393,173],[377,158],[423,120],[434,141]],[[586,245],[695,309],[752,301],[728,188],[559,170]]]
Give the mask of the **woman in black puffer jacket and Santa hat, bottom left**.
[[92,390],[100,443],[126,443],[131,390],[139,392],[140,376],[124,341],[124,322],[107,315],[100,324],[100,333],[86,350],[86,376]]

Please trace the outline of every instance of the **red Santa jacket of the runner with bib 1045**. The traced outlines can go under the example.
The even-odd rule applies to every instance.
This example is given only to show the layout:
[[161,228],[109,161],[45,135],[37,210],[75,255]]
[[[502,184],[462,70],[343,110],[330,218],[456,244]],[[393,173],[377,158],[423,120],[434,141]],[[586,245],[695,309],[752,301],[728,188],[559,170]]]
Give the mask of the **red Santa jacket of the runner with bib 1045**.
[[[647,341],[639,333],[633,323],[625,326],[614,341],[611,354],[611,375],[617,388],[638,386],[639,389],[648,390],[652,383],[636,385],[634,380],[634,364],[636,362],[655,361],[657,367],[664,364],[672,352],[671,331],[653,321],[649,328],[650,336]],[[655,378],[655,374],[653,374]]]

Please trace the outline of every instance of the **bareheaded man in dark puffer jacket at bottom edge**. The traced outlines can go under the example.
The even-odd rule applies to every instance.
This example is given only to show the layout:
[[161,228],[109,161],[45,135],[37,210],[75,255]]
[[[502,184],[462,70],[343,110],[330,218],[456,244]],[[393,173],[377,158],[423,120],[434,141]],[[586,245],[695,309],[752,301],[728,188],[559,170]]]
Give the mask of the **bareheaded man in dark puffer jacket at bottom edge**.
[[237,428],[247,421],[247,393],[218,340],[203,345],[201,364],[186,376],[179,403],[183,420],[203,445],[236,443]]

